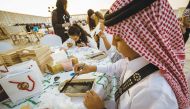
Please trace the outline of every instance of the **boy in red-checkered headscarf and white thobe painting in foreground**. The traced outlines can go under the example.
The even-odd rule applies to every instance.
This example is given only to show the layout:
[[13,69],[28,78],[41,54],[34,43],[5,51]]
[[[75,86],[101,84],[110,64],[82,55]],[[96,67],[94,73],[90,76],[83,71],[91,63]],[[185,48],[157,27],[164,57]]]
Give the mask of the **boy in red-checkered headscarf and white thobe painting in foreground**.
[[[118,75],[118,109],[190,108],[183,71],[183,35],[168,0],[116,0],[105,16],[105,26],[114,36],[113,45],[128,60],[107,66],[77,64],[77,74],[97,71]],[[142,70],[146,66],[148,69]],[[79,71],[80,67],[83,69]],[[150,70],[153,72],[147,73]],[[86,93],[84,105],[87,109],[105,109],[94,91]]]

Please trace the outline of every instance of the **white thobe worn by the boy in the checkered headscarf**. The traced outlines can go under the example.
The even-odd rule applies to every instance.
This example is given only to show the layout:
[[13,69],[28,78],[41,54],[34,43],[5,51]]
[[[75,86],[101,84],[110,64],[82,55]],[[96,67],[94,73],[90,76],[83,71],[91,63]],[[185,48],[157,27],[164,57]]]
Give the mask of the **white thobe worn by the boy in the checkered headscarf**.
[[[97,66],[97,72],[120,76],[124,83],[132,74],[149,64],[140,57],[132,61],[120,59],[109,66]],[[124,92],[118,109],[178,109],[177,99],[165,78],[156,71]]]

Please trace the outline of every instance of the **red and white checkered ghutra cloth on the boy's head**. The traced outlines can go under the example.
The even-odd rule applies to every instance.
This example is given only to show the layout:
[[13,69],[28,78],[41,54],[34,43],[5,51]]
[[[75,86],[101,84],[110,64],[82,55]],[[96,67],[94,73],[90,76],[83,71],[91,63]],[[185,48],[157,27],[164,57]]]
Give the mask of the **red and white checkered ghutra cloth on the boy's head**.
[[[116,0],[109,13],[132,0]],[[120,36],[133,50],[158,66],[174,91],[180,109],[189,106],[189,93],[183,72],[185,48],[176,15],[167,0],[157,0],[106,31]]]

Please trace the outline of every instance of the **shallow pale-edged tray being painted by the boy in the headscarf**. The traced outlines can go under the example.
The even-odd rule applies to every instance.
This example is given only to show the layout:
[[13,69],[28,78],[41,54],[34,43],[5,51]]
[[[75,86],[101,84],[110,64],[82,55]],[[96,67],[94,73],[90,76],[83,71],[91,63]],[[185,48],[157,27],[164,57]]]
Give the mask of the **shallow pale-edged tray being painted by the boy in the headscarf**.
[[67,83],[68,81],[66,80],[59,85],[59,91],[71,97],[84,96],[86,91],[91,90],[94,84],[94,79],[73,79],[70,83]]

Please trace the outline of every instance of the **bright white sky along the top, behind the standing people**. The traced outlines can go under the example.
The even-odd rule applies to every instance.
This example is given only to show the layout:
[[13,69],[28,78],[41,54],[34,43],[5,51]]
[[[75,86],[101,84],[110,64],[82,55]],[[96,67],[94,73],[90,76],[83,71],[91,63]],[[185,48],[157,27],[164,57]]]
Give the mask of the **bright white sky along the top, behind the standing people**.
[[[86,14],[88,9],[98,11],[108,9],[115,0],[68,0],[68,11],[71,15]],[[169,0],[174,9],[185,7],[189,0]],[[51,14],[48,7],[55,6],[56,0],[0,0],[0,10],[45,16]]]

